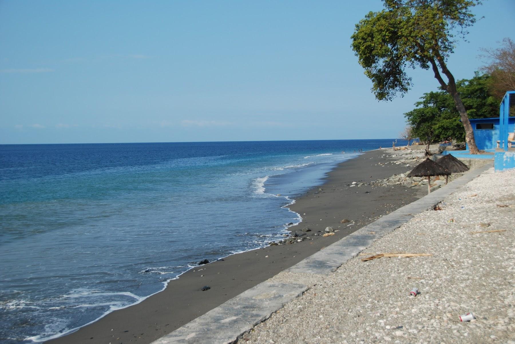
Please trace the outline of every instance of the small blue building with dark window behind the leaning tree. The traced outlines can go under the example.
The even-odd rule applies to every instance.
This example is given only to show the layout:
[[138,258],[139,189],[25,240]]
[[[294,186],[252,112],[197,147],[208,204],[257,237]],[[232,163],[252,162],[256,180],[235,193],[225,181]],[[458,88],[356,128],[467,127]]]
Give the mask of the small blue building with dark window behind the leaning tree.
[[[500,137],[501,124],[499,117],[470,119],[472,130],[474,130],[474,139],[476,146],[480,150],[489,150],[497,148],[497,142]],[[515,117],[508,118],[508,132],[513,132],[515,125]],[[469,145],[467,144],[467,150]]]

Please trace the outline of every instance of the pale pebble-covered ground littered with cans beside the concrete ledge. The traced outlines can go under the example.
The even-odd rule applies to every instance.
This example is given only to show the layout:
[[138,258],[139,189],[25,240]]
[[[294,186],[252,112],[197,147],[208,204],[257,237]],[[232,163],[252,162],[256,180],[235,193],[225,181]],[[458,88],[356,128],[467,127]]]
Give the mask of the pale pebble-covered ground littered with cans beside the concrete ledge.
[[[515,171],[490,169],[438,209],[376,241],[239,342],[515,344]],[[432,256],[361,260],[382,252]],[[409,296],[414,287],[420,294]],[[476,319],[460,322],[468,312]]]

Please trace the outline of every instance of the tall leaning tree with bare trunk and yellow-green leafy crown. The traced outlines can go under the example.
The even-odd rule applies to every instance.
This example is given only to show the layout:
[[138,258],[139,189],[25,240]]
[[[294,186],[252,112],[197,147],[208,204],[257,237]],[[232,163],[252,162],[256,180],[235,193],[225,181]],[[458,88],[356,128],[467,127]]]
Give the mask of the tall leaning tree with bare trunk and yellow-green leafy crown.
[[465,40],[467,27],[475,23],[471,8],[478,4],[479,0],[384,0],[385,9],[369,12],[351,37],[352,49],[378,100],[408,91],[412,83],[407,67],[431,67],[454,100],[472,154],[479,150],[447,60],[458,40]]

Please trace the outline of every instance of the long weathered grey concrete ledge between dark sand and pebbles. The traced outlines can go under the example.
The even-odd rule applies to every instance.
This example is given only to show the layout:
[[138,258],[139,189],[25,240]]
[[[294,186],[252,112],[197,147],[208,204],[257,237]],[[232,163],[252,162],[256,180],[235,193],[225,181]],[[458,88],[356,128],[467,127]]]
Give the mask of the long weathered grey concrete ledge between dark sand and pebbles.
[[333,273],[373,242],[408,222],[416,214],[432,209],[479,176],[491,164],[477,168],[420,200],[408,204],[355,231],[340,241],[286,269],[273,278],[221,304],[210,312],[161,337],[154,343],[230,343],[266,320],[286,303]]

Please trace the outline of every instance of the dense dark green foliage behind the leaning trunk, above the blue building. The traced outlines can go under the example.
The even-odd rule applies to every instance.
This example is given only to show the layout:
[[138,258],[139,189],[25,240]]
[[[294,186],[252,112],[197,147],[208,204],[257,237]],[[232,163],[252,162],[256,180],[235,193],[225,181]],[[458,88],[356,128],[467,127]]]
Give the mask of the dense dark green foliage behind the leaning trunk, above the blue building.
[[[500,98],[490,95],[490,76],[476,75],[474,78],[459,80],[456,85],[467,113],[471,118],[499,116]],[[404,114],[408,125],[413,128],[413,136],[424,143],[435,143],[447,139],[464,141],[465,130],[451,95],[439,92],[424,93],[416,102],[414,110]]]

